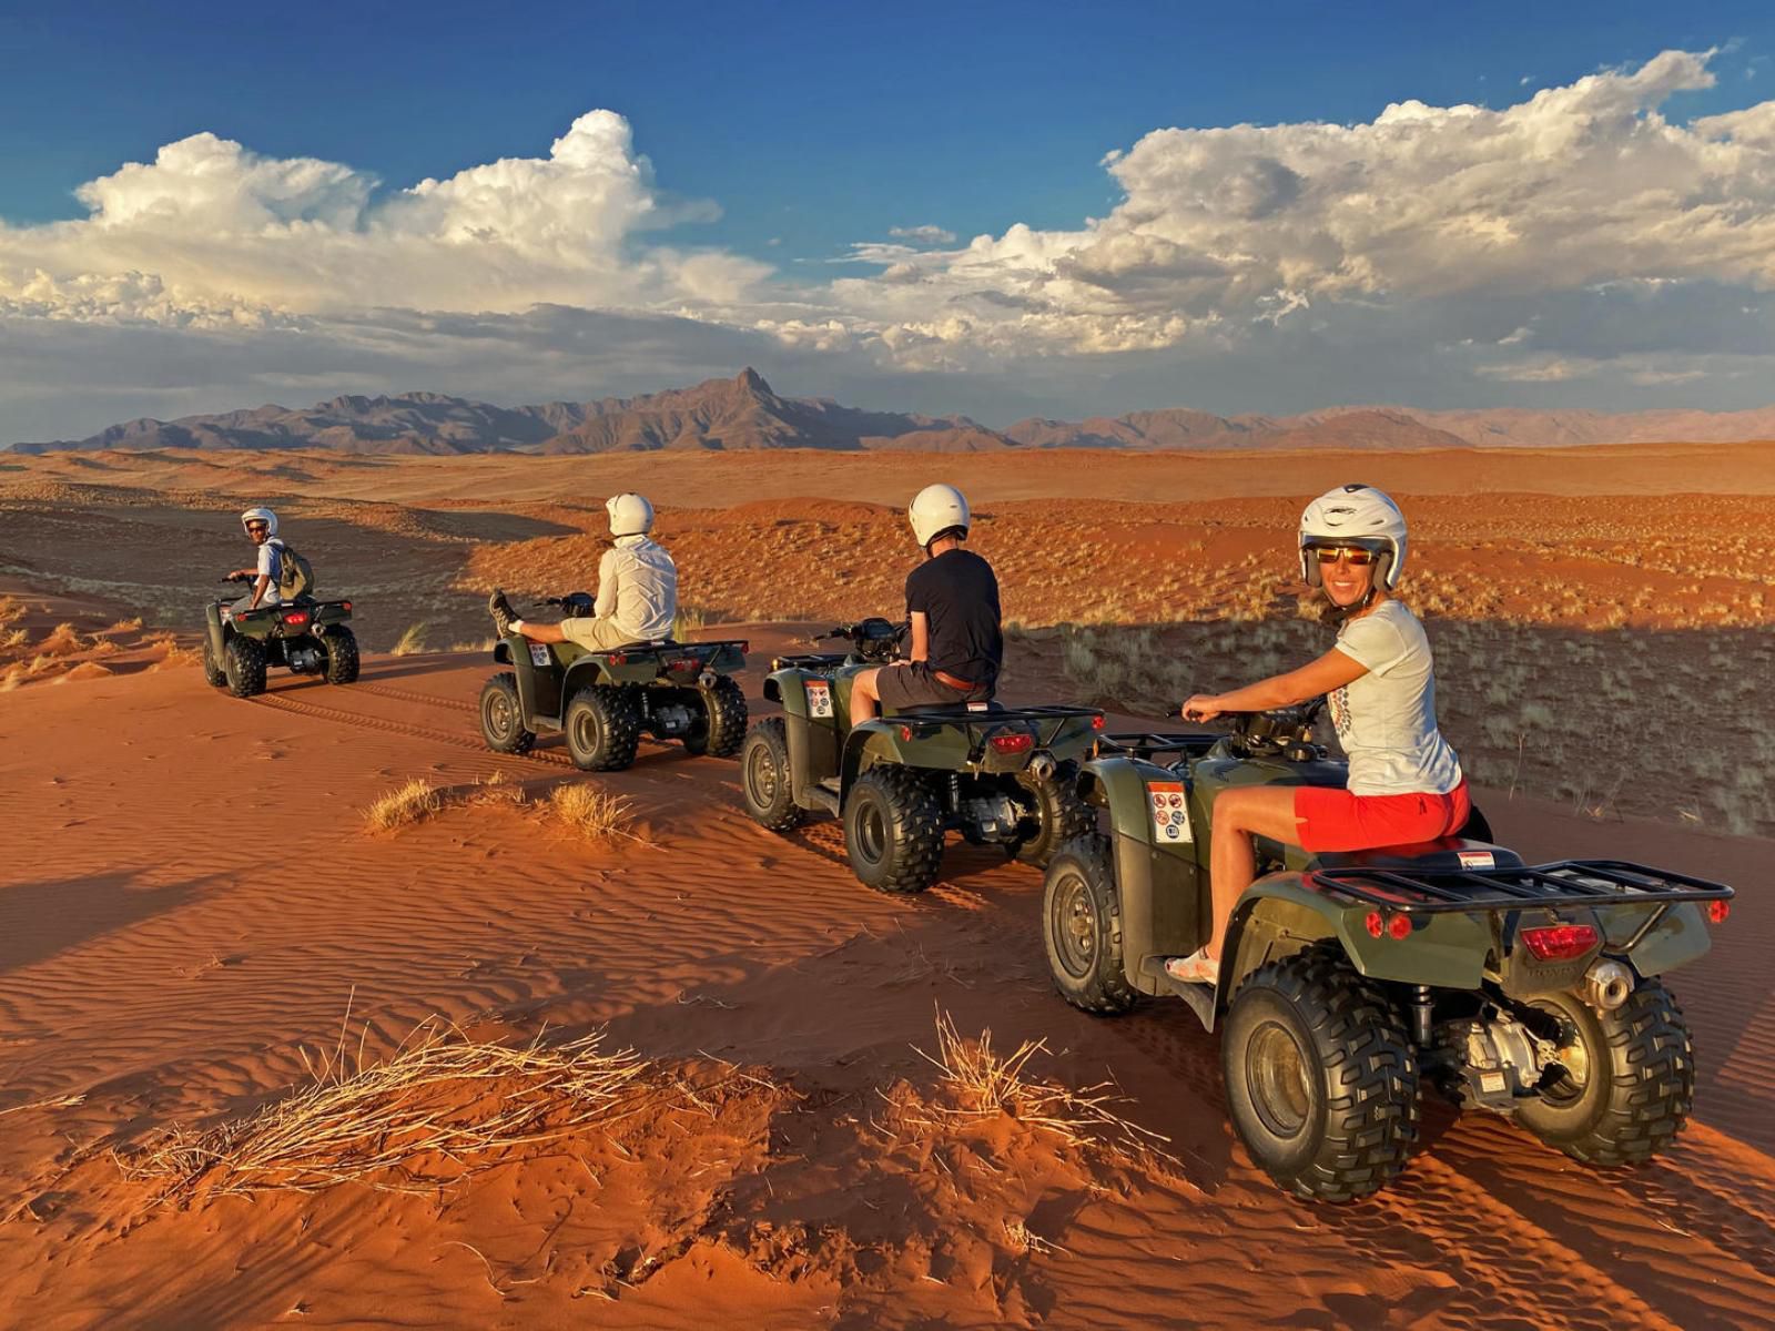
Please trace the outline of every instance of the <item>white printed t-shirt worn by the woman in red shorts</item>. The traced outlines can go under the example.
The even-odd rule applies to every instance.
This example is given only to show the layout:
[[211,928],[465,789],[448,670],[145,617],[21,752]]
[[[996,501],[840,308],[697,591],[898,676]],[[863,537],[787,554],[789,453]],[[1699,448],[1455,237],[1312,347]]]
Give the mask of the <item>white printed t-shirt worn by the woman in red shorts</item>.
[[1416,616],[1384,600],[1344,621],[1337,650],[1369,667],[1328,699],[1351,793],[1447,795],[1459,786],[1461,760],[1436,729],[1436,669]]

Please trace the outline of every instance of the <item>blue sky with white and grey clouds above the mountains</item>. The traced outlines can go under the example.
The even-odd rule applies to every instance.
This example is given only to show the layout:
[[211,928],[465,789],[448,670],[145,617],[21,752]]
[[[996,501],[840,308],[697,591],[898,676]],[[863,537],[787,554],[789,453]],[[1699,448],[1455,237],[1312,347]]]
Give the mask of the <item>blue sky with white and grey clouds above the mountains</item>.
[[[330,396],[334,383],[474,389],[506,399],[632,392],[726,369],[733,357],[763,360],[760,367],[786,390],[990,419],[1184,401],[1223,412],[1294,410],[1358,398],[1427,406],[1752,405],[1761,392],[1750,387],[1757,358],[1768,353],[1759,295],[1766,273],[1729,257],[1745,248],[1743,238],[1720,245],[1718,263],[1695,266],[1647,256],[1631,241],[1635,225],[1656,232],[1656,218],[1617,217],[1598,234],[1621,259],[1583,273],[1548,302],[1548,282],[1532,264],[1503,264],[1495,282],[1463,287],[1422,257],[1399,266],[1397,238],[1363,252],[1367,241],[1353,241],[1347,222],[1337,220],[1321,227],[1342,250],[1324,273],[1303,259],[1324,248],[1322,236],[1303,240],[1306,231],[1292,229],[1274,241],[1260,273],[1227,277],[1228,247],[1241,229],[1227,218],[1209,218],[1209,225],[1198,208],[1218,188],[1211,177],[1282,172],[1294,181],[1282,206],[1299,209],[1315,199],[1326,217],[1347,213],[1349,195],[1333,195],[1349,186],[1321,185],[1296,158],[1305,153],[1329,169],[1322,146],[1306,144],[1301,126],[1370,126],[1388,105],[1413,99],[1434,110],[1471,105],[1502,114],[1541,89],[1580,87],[1598,71],[1628,76],[1661,51],[1690,53],[1706,73],[1677,71],[1658,80],[1654,92],[1635,94],[1640,121],[1654,114],[1686,126],[1775,98],[1775,7],[1766,4],[1388,4],[1360,11],[1322,4],[1106,4],[1088,11],[1047,4],[309,4],[275,12],[185,4],[176,14],[121,4],[14,4],[0,14],[0,353],[25,366],[73,351],[91,364],[94,383],[80,403],[57,405],[57,394],[64,403],[78,394],[76,376],[44,383],[41,374],[18,373],[9,382],[0,367],[0,435],[14,422],[14,435],[27,426],[96,428],[133,406],[165,413],[266,396],[302,401],[309,389],[309,399]],[[600,108],[619,117],[628,140],[618,142],[621,133],[604,122],[588,133],[586,144],[596,140],[598,153],[614,154],[600,158],[596,170],[623,170],[644,156],[651,176],[635,197],[598,195],[614,220],[600,224],[584,256],[570,252],[572,236],[561,236],[579,195],[547,222],[547,240],[543,231],[518,236],[527,222],[515,222],[511,209],[522,211],[520,195],[536,188],[531,183],[513,185],[518,202],[508,199],[483,227],[488,236],[515,238],[513,252],[524,256],[524,279],[509,293],[488,284],[454,289],[444,280],[449,273],[433,286],[437,270],[403,250],[412,286],[410,302],[399,307],[410,316],[517,321],[502,332],[481,325],[463,334],[454,360],[415,353],[417,334],[401,319],[378,323],[371,311],[389,309],[389,293],[360,305],[339,298],[353,284],[348,263],[330,296],[325,272],[314,273],[312,289],[288,280],[291,266],[343,263],[341,250],[364,248],[366,236],[390,217],[405,218],[401,206],[419,181],[449,181],[501,158],[547,160],[552,140]],[[1218,140],[1148,138],[1172,126],[1237,124],[1274,126],[1278,135],[1234,156]],[[1761,153],[1761,131],[1752,130],[1740,130],[1740,138]],[[1457,122],[1440,130],[1434,151],[1454,151],[1459,131]],[[298,259],[273,259],[252,241],[240,256],[222,256],[229,272],[222,259],[215,273],[199,272],[188,256],[181,266],[167,259],[179,240],[202,250],[208,227],[248,234],[266,217],[211,222],[195,204],[181,213],[186,204],[163,181],[151,183],[153,206],[138,206],[138,193],[124,197],[122,186],[110,192],[112,215],[128,215],[138,227],[130,243],[110,243],[115,225],[89,225],[80,236],[67,231],[98,217],[92,199],[82,201],[76,190],[119,177],[126,163],[153,163],[165,146],[199,135],[209,137],[204,144],[238,144],[248,156],[211,154],[190,172],[241,172],[257,181],[248,192],[264,177],[252,163],[348,169],[350,183],[328,185],[346,190],[344,202],[335,193],[320,202],[304,195],[304,208],[321,211],[293,218],[279,204],[266,215],[273,225],[296,227],[325,215],[325,225],[344,240],[334,236],[339,243],[309,247]],[[1376,179],[1392,172],[1386,154],[1395,138],[1393,130],[1376,130]],[[1509,149],[1500,138],[1475,151]],[[1124,154],[1129,174],[1106,169],[1109,153]],[[1704,146],[1692,156],[1704,158]],[[1464,158],[1456,165],[1486,169]],[[1182,185],[1180,172],[1187,176]],[[1704,192],[1747,190],[1732,215],[1766,208],[1752,183],[1754,163],[1725,176]],[[477,179],[453,197],[460,202],[470,185],[479,190],[485,181]],[[130,190],[140,183],[122,181]],[[279,185],[279,201],[291,188]],[[1436,188],[1436,177],[1408,174],[1393,188],[1422,192]],[[1129,209],[1129,195],[1141,192],[1148,202]],[[396,206],[392,213],[387,204]],[[1248,206],[1244,193],[1235,206]],[[1175,211],[1170,222],[1148,225],[1166,209]],[[1569,217],[1573,201],[1560,211]],[[1253,213],[1253,220],[1271,225],[1273,215]],[[142,218],[154,217],[160,229],[142,232]],[[1695,225],[1716,229],[1718,217]],[[1088,218],[1111,218],[1111,229],[1120,229],[1109,259],[1108,250],[1097,252],[1102,247],[1081,250],[1077,236]],[[442,231],[428,232],[424,243],[467,243],[460,217],[433,222]],[[1438,234],[1468,227],[1450,218],[1434,225]],[[1514,215],[1475,225],[1521,231],[1525,243],[1541,234],[1518,227]],[[1571,240],[1544,218],[1534,225],[1553,227],[1544,232],[1550,252]],[[891,234],[911,227],[955,240],[935,231]],[[1014,234],[1015,227],[1024,231]],[[1024,232],[1033,236],[1028,245]],[[994,252],[935,257],[974,236],[992,238]],[[1131,257],[1131,247],[1145,247],[1145,257]],[[1152,257],[1154,247],[1161,257]],[[685,268],[694,256],[705,261]],[[1452,273],[1461,256],[1448,261]],[[509,273],[513,263],[504,254],[493,268]],[[1227,277],[1216,279],[1212,293],[1196,284],[1203,263]],[[1113,280],[1104,277],[1111,270]],[[643,272],[646,280],[637,279]],[[994,273],[1005,275],[998,286]],[[133,286],[119,296],[124,279]],[[1175,291],[1163,286],[1173,279],[1182,282]],[[147,298],[144,280],[153,287]],[[1681,291],[1670,291],[1672,282]],[[1622,351],[1580,335],[1585,309],[1603,319],[1621,284],[1665,293],[1653,305],[1658,319],[1672,321],[1667,343]],[[96,298],[99,286],[106,295]],[[914,287],[919,298],[911,302]],[[1173,296],[1180,314],[1166,318],[1159,311]],[[987,309],[994,303],[1021,307],[1019,323],[994,321]],[[1393,318],[1376,314],[1377,303]],[[538,307],[550,316],[538,316]],[[1743,312],[1748,307],[1754,314]],[[1647,309],[1640,300],[1635,318],[1644,319]],[[1697,325],[1729,309],[1748,325],[1720,346]],[[563,311],[580,319],[570,337],[561,335]],[[660,353],[612,357],[591,327],[593,314],[660,321],[650,325]],[[682,316],[701,327],[674,328],[669,321]],[[735,330],[731,350],[717,346],[719,337],[710,341],[710,327]],[[815,327],[827,332],[809,332]],[[1566,330],[1562,341],[1544,339],[1551,327]],[[556,341],[547,343],[547,364],[525,380],[522,364],[538,364],[538,339],[550,328]],[[770,330],[763,341],[760,328]],[[1526,332],[1514,337],[1519,328]],[[1427,335],[1448,348],[1489,337],[1500,353],[1418,364]],[[501,346],[492,360],[511,366],[485,369],[490,358],[469,351],[488,339]],[[1397,369],[1360,367],[1349,339],[1370,360],[1390,358]],[[385,357],[366,357],[366,341]],[[291,357],[293,348],[302,355]],[[575,348],[596,350],[575,358]],[[1647,358],[1658,353],[1668,367]],[[1276,373],[1278,357],[1289,357],[1287,373]],[[233,360],[236,369],[217,369]],[[291,360],[302,367],[277,369]],[[117,373],[98,373],[106,366]],[[119,374],[130,382],[119,383]]]

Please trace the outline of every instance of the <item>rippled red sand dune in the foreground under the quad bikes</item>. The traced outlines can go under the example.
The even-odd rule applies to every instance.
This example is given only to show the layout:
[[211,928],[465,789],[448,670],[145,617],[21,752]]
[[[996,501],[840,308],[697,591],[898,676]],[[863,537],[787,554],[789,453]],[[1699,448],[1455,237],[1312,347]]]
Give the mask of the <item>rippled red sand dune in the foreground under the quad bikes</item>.
[[[744,632],[760,653],[785,641]],[[195,666],[0,696],[0,1320],[1768,1326],[1775,843],[1487,792],[1530,855],[1743,887],[1676,981],[1697,1122],[1651,1166],[1594,1173],[1431,1113],[1400,1185],[1305,1207],[1234,1143],[1214,1040],[1182,1004],[1092,1020],[1049,992],[1033,870],[960,848],[928,896],[873,894],[832,825],[769,836],[731,763],[655,747],[602,781],[643,841],[588,847],[499,806],[366,834],[359,811],[410,776],[579,779],[554,745],[481,749],[488,669],[371,657],[357,687],[279,676],[252,703]],[[330,1049],[348,999],[371,1052],[428,1013],[508,1042],[607,1026],[705,1093],[417,1196],[156,1207],[119,1173],[110,1146],[300,1083],[298,1049]],[[896,1132],[884,1091],[932,1093],[914,1045],[934,1047],[939,1008],[1001,1047],[1045,1038],[1063,1083],[1113,1079],[1175,1164],[1008,1120]]]

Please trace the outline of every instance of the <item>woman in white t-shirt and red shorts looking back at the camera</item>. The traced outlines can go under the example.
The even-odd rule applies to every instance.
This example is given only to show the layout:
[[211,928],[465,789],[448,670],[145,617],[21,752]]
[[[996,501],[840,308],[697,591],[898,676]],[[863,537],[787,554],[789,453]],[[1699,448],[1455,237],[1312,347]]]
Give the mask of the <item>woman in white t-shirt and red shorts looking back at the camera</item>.
[[1314,852],[1367,850],[1450,836],[1471,813],[1461,761],[1436,729],[1429,639],[1393,600],[1406,568],[1404,513],[1374,486],[1338,486],[1301,515],[1299,554],[1301,577],[1340,621],[1337,646],[1289,674],[1196,694],[1184,717],[1212,721],[1326,694],[1349,786],[1239,786],[1214,799],[1214,932],[1193,957],[1166,962],[1177,980],[1219,976],[1227,919],[1257,875],[1253,836]]

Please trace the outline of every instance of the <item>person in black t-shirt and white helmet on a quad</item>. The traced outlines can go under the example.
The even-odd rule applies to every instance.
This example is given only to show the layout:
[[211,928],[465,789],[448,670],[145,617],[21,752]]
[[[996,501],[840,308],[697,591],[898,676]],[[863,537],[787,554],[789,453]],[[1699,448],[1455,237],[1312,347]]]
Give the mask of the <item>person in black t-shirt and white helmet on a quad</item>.
[[850,681],[850,724],[870,721],[875,706],[983,703],[1005,662],[998,579],[992,564],[964,550],[967,500],[953,484],[928,484],[907,511],[925,563],[905,580],[912,623],[912,658],[861,671]]

